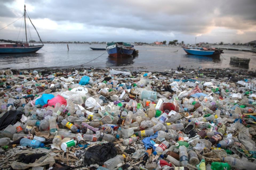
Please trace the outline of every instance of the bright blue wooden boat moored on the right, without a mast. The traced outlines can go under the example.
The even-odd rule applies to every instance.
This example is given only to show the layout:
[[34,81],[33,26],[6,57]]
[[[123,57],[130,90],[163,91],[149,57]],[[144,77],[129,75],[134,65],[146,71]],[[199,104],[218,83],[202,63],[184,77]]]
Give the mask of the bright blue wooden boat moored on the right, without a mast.
[[197,56],[214,56],[223,53],[221,49],[206,48],[206,47],[182,47],[183,50],[190,55]]

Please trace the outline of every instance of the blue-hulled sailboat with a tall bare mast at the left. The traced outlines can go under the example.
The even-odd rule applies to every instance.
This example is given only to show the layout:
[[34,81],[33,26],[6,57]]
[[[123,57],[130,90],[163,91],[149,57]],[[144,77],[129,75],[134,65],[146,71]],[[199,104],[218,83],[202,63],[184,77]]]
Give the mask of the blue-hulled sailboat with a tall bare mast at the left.
[[10,43],[10,44],[0,44],[0,54],[9,54],[9,53],[34,53],[37,52],[39,49],[43,47],[43,42],[37,32],[37,29],[35,28],[34,24],[31,22],[31,19],[28,18],[35,28],[35,31],[37,32],[37,35],[39,37],[39,40],[41,41],[42,45],[29,45],[27,43],[27,26],[26,26],[26,5],[24,5],[24,22],[25,22],[25,34],[26,34],[26,43],[23,43],[21,41],[12,41],[12,40],[3,40],[0,39],[0,41]]

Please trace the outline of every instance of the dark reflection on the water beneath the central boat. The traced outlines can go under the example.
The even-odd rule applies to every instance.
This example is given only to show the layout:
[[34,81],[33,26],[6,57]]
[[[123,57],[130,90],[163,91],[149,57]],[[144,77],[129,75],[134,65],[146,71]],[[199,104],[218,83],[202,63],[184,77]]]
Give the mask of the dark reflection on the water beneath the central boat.
[[107,61],[106,61],[106,65],[108,67],[111,66],[129,66],[134,64],[133,59],[137,58],[138,55],[136,56],[130,56],[130,57],[123,57],[123,58],[115,58],[112,56],[108,56]]

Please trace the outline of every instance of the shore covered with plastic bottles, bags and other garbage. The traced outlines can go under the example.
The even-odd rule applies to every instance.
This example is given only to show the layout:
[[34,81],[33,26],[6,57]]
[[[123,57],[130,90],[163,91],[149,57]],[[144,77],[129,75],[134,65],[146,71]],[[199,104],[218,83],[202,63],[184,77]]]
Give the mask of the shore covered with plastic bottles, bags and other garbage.
[[256,72],[0,70],[2,169],[256,169]]

